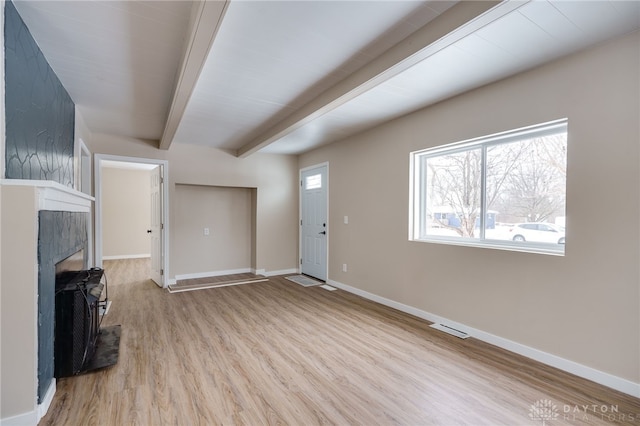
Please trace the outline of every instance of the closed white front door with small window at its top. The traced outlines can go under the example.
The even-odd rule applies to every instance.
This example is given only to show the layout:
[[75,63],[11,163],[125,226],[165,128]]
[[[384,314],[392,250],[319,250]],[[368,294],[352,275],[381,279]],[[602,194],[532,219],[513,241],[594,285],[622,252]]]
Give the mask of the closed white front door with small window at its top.
[[327,166],[301,173],[301,271],[327,280]]

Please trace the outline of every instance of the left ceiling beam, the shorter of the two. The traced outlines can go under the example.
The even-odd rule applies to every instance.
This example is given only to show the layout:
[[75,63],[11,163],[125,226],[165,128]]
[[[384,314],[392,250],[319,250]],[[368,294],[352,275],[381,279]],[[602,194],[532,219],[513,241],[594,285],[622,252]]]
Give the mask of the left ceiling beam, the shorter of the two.
[[160,138],[160,149],[169,149],[187,108],[216,34],[220,29],[230,0],[201,0],[193,5],[191,33],[185,49],[182,67],[169,109],[169,115]]

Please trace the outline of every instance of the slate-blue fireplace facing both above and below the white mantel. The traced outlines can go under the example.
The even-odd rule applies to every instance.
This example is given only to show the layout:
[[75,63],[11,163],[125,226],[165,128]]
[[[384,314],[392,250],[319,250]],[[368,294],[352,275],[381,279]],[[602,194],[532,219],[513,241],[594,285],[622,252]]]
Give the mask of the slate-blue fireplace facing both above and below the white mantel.
[[[12,2],[4,10],[5,177],[74,186],[75,105]],[[85,247],[85,214],[42,212],[38,402],[53,379],[55,263]]]

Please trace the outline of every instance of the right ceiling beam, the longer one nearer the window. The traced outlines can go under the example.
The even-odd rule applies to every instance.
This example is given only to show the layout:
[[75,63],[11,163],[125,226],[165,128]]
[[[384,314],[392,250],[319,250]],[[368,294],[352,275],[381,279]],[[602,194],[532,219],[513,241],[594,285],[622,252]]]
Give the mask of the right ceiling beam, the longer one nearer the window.
[[458,3],[259,137],[243,145],[237,150],[236,155],[247,157],[259,151],[528,1],[462,1]]

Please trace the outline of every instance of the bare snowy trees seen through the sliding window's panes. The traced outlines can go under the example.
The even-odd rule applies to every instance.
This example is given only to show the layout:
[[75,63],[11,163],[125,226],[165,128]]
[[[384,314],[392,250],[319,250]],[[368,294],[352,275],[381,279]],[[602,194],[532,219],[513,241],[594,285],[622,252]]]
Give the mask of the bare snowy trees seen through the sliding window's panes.
[[493,215],[492,227],[496,220],[513,224],[564,217],[566,152],[563,132],[428,157],[427,227],[479,236],[483,167],[485,215]]

